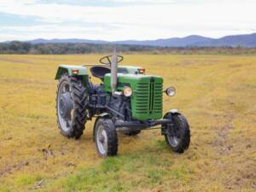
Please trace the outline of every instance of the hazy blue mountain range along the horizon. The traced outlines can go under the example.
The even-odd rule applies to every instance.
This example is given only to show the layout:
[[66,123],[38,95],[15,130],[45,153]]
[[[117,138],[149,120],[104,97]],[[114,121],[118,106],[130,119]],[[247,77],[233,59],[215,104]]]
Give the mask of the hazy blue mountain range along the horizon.
[[256,33],[245,35],[225,36],[224,38],[207,38],[199,35],[191,35],[185,38],[163,38],[156,40],[125,40],[102,41],[79,38],[68,39],[44,39],[38,38],[26,41],[31,44],[132,44],[158,47],[256,47]]

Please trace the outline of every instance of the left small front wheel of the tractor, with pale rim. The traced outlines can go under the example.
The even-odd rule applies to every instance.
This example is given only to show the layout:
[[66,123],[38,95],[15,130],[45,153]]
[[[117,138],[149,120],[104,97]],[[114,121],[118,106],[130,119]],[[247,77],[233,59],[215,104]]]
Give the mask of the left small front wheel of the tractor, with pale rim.
[[118,151],[118,137],[111,119],[100,118],[95,126],[96,149],[101,157],[114,156]]

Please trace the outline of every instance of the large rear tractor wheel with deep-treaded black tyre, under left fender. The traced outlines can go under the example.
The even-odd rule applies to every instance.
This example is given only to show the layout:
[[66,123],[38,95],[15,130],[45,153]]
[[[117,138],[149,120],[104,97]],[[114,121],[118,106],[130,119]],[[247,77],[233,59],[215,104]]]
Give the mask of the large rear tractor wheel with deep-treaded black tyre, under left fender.
[[57,123],[61,134],[78,139],[83,135],[88,96],[80,79],[61,76],[56,97]]

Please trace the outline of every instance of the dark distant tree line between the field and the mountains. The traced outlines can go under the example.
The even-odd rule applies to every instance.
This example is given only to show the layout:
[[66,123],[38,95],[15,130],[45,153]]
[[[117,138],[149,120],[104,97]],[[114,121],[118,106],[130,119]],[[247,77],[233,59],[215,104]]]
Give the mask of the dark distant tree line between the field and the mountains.
[[0,54],[67,55],[111,53],[116,47],[119,53],[142,54],[209,54],[209,55],[256,55],[255,48],[244,47],[153,47],[125,44],[29,44],[19,41],[0,43]]

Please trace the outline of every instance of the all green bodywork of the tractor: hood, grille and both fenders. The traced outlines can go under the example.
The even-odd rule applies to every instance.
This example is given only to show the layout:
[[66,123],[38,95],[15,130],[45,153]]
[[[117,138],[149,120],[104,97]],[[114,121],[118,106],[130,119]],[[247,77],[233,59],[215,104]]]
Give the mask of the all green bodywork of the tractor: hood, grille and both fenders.
[[[132,119],[161,119],[163,79],[159,76],[139,74],[139,68],[141,67],[118,67],[117,91],[122,91],[125,86],[131,87],[133,91],[131,95]],[[73,74],[73,69],[78,69],[79,73]],[[55,79],[60,79],[63,73],[81,77],[84,85],[88,87],[89,74],[86,67],[61,65],[58,68]],[[108,92],[107,100],[111,96],[110,77],[111,73],[106,74],[103,82],[104,90]]]

